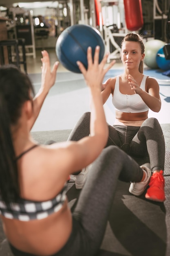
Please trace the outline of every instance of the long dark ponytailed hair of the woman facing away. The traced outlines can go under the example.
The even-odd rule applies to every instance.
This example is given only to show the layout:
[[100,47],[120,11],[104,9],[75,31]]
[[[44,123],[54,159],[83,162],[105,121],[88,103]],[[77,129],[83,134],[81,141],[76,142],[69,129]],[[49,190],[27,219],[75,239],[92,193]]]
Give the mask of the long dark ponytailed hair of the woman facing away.
[[20,194],[11,125],[18,123],[31,93],[33,86],[26,74],[13,65],[0,67],[0,194],[5,202],[15,201]]

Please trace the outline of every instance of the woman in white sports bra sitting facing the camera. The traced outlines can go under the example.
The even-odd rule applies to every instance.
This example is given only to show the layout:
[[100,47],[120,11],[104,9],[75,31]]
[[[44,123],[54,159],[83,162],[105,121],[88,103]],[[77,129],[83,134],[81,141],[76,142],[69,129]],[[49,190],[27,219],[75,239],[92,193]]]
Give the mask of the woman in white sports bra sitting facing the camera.
[[[124,73],[103,84],[103,104],[113,96],[116,120],[109,127],[106,147],[116,145],[133,157],[139,165],[150,163],[152,176],[145,197],[163,202],[165,141],[157,119],[148,118],[148,110],[159,112],[161,99],[156,79],[143,74],[144,43],[138,34],[127,34],[121,43]],[[69,140],[78,140],[89,133],[90,112],[78,121]],[[80,174],[82,175],[82,174]],[[79,179],[75,176],[75,179]],[[130,193],[139,195],[138,184],[130,184]]]

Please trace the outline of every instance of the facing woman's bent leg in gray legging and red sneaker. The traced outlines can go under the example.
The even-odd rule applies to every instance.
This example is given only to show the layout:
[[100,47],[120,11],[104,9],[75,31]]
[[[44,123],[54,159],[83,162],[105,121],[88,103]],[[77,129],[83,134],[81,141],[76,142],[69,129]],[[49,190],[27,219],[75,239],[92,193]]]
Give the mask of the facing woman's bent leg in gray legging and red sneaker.
[[145,197],[149,200],[163,202],[165,197],[165,180],[163,177],[165,163],[165,140],[157,119],[148,118],[144,121],[131,143],[132,154],[148,152],[152,177]]

